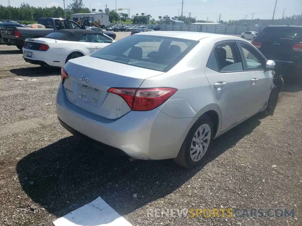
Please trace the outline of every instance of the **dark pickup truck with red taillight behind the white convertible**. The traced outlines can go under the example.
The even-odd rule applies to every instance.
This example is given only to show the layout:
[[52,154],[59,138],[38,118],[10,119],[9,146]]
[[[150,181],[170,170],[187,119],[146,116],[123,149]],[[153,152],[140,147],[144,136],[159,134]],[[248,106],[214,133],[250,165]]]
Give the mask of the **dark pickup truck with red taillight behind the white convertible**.
[[[73,20],[62,18],[40,18],[38,24],[42,24],[45,28],[28,28],[28,27],[1,27],[1,40],[2,44],[8,46],[17,46],[22,49],[25,39],[42,38],[54,30],[61,29],[82,29],[82,27]],[[105,33],[106,35],[110,35]]]

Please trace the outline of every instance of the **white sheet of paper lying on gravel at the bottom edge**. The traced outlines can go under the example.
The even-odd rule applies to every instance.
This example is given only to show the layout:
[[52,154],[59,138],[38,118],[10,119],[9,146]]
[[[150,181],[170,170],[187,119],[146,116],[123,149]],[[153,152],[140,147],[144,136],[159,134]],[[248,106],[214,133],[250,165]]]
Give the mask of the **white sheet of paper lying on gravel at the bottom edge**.
[[101,197],[53,221],[55,226],[132,226]]

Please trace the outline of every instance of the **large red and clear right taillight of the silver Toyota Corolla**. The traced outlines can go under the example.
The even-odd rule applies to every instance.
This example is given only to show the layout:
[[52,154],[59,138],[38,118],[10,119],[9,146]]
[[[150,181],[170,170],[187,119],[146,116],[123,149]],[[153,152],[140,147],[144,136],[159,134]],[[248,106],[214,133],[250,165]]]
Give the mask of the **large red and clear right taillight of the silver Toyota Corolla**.
[[162,105],[178,89],[174,88],[110,88],[109,93],[121,96],[133,111],[150,111]]

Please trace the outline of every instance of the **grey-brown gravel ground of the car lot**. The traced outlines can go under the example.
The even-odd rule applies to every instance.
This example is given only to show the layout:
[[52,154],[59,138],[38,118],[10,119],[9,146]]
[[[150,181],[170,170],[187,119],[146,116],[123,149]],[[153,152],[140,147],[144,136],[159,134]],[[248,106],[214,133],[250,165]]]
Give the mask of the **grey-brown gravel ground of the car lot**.
[[[98,196],[134,226],[302,225],[302,86],[286,84],[274,116],[243,122],[214,140],[201,167],[183,171],[71,136],[56,118],[59,70],[33,67],[11,46],[0,46],[0,62],[0,225],[53,225]],[[222,207],[295,217],[147,217],[149,208]]]

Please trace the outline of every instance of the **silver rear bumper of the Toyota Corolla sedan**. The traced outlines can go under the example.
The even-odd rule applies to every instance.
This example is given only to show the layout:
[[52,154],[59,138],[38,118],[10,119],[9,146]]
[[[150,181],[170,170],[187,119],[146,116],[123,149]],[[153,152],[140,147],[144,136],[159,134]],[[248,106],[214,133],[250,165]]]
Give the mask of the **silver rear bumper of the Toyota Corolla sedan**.
[[[197,118],[171,118],[157,108],[130,111],[116,120],[89,113],[67,101],[62,83],[56,97],[57,115],[71,133],[88,137],[101,146],[125,152],[133,159],[171,159]],[[65,126],[66,124],[66,126]]]

